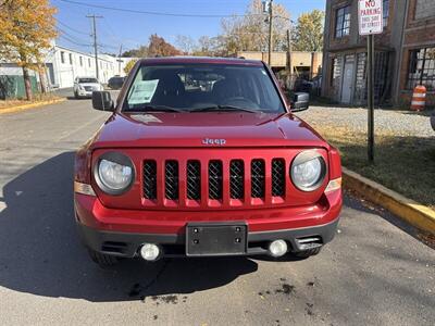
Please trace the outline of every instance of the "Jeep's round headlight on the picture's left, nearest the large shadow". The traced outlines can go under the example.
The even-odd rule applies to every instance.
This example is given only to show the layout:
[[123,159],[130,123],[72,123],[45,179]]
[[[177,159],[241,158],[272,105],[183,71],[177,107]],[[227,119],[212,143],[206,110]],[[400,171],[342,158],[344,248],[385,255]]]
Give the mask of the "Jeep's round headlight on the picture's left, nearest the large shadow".
[[99,158],[94,168],[94,177],[102,191],[122,195],[132,186],[135,170],[126,155],[108,152]]

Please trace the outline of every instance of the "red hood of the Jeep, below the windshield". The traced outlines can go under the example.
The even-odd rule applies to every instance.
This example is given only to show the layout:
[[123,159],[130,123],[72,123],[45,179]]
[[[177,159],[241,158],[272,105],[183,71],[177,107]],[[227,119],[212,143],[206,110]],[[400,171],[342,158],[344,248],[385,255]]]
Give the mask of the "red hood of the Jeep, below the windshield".
[[328,147],[290,113],[114,113],[94,138],[95,148],[288,146]]

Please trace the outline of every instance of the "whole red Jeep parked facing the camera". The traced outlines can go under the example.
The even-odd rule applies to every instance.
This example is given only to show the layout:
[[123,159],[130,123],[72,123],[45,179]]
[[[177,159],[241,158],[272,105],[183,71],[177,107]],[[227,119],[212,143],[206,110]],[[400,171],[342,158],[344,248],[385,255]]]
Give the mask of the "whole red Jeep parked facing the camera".
[[[336,149],[291,114],[261,61],[156,58],[75,159],[75,217],[91,259],[316,254],[341,209]],[[290,108],[291,106],[291,108]]]

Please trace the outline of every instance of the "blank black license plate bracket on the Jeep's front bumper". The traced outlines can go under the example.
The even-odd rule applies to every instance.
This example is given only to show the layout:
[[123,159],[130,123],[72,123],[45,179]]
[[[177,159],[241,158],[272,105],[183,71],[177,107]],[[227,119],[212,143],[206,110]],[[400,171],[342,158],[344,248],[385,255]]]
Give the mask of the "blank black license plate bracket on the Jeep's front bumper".
[[186,227],[186,255],[241,255],[248,250],[248,226],[189,223]]

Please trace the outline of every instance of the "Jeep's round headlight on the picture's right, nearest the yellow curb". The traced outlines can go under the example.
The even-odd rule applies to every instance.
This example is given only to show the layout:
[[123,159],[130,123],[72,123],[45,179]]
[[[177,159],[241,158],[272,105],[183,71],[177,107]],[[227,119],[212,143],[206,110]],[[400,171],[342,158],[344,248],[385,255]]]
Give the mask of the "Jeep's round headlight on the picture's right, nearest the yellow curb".
[[302,191],[318,189],[326,176],[326,163],[316,151],[303,151],[291,163],[290,176],[295,186]]

